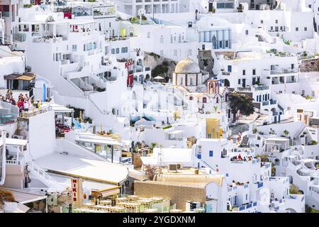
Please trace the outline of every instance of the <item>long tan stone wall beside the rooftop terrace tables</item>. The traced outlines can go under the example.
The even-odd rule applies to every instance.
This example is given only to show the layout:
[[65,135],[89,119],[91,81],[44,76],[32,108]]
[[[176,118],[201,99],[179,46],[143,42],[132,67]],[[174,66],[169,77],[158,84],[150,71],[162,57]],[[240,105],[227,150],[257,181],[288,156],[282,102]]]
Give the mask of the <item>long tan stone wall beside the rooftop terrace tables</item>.
[[183,211],[186,210],[187,201],[200,201],[203,206],[206,202],[205,188],[188,187],[186,184],[172,185],[168,182],[135,181],[134,191],[135,195],[141,197],[160,196],[163,199],[169,199],[171,206],[176,204],[176,209]]

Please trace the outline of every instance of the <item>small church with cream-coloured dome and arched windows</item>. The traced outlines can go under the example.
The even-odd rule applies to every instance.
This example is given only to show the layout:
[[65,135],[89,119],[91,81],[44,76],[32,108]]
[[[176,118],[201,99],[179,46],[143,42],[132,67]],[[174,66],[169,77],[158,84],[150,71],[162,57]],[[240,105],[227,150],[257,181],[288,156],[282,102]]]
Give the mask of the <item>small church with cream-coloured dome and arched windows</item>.
[[173,72],[173,85],[190,88],[200,86],[203,82],[203,74],[198,64],[190,57],[177,63]]

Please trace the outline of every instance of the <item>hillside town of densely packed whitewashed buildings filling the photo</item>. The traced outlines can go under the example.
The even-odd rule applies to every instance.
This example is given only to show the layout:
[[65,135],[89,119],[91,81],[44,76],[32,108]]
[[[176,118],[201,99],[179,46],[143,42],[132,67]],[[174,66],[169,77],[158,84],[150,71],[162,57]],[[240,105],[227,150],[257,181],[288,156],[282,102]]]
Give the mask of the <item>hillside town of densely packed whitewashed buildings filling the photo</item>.
[[[135,194],[174,211],[319,210],[318,10],[309,0],[1,1],[0,93],[38,103],[19,112],[0,101],[0,187],[39,204],[5,209],[67,212]],[[230,94],[252,98],[254,114],[234,114]],[[141,181],[150,165],[164,173]],[[162,191],[177,182],[206,200]]]

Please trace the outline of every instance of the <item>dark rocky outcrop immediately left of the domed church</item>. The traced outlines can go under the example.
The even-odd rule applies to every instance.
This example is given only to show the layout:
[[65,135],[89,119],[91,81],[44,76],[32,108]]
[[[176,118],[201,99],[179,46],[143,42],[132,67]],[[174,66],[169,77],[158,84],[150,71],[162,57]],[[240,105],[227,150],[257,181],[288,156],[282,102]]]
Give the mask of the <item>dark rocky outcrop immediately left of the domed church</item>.
[[152,77],[164,77],[166,82],[171,79],[177,62],[159,56],[154,52],[144,52],[144,64],[152,67]]

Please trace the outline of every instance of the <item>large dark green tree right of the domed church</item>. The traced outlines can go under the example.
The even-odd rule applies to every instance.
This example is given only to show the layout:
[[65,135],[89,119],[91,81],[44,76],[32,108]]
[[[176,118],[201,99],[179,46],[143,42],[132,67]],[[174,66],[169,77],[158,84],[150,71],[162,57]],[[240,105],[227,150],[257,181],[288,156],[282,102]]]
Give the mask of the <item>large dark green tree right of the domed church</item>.
[[252,98],[246,94],[240,94],[237,92],[228,94],[230,100],[230,109],[233,114],[233,122],[236,121],[236,114],[238,111],[242,115],[250,116],[254,113],[254,105],[252,104]]

